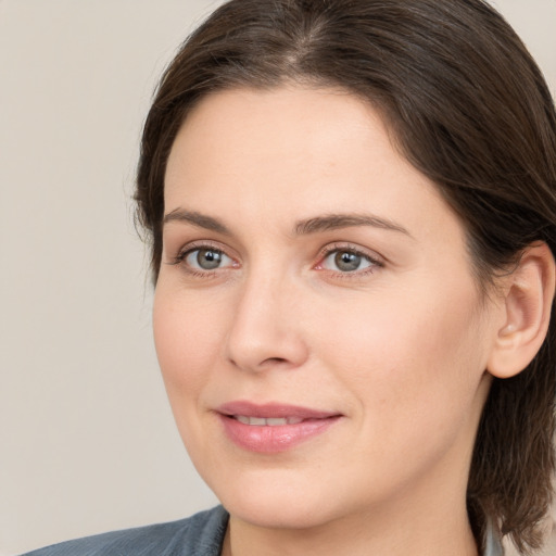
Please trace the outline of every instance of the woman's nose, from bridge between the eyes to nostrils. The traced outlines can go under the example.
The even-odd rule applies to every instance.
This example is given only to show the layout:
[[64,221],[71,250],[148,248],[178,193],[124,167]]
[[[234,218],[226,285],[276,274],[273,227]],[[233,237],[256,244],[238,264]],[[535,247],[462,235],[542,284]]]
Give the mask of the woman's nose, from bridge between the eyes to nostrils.
[[300,295],[280,278],[252,276],[238,294],[227,338],[227,359],[245,371],[294,369],[308,355]]

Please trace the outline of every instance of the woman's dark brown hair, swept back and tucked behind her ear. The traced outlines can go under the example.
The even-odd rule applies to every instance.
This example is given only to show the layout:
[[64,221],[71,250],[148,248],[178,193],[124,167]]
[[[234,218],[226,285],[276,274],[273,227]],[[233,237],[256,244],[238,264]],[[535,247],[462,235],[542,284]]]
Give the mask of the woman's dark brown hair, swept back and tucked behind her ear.
[[[556,114],[520,39],[482,0],[231,0],[182,45],[149,112],[138,216],[162,254],[165,165],[195,103],[232,87],[341,87],[372,103],[405,157],[464,223],[484,290],[534,241],[556,253]],[[529,367],[494,379],[468,483],[486,520],[527,552],[552,497],[555,314]]]

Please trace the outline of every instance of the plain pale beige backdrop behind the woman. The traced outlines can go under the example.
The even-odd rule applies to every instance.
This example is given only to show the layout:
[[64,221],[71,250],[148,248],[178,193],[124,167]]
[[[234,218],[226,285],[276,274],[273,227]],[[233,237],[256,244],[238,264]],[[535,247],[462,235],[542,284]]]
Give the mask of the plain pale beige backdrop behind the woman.
[[[215,504],[132,223],[161,71],[217,0],[0,0],[0,556]],[[556,0],[498,0],[556,90]],[[551,553],[552,554],[552,553]]]

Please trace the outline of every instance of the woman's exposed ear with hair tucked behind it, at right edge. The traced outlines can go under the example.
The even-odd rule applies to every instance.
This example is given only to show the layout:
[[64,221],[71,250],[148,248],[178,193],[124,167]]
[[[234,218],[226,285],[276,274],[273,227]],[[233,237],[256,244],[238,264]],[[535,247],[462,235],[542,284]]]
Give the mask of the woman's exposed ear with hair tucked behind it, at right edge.
[[546,338],[555,290],[555,262],[548,245],[539,242],[527,248],[517,268],[502,281],[504,324],[486,370],[509,378],[531,363]]

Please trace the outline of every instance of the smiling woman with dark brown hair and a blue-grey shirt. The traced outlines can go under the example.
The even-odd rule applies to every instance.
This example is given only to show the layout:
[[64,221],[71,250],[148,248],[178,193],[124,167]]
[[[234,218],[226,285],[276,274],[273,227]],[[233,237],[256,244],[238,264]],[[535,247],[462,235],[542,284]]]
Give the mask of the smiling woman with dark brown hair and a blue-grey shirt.
[[488,4],[228,2],[161,81],[136,198],[223,507],[34,554],[540,547],[556,115]]

